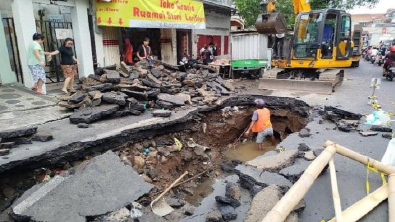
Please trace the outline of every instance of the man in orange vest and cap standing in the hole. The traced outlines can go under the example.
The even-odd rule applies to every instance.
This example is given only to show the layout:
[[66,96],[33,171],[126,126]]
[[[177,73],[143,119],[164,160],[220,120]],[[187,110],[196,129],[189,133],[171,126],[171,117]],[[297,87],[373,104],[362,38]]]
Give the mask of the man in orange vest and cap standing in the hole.
[[255,99],[254,103],[258,109],[253,112],[251,124],[249,124],[249,127],[247,131],[245,131],[244,136],[248,137],[251,130],[254,133],[258,133],[258,135],[256,136],[258,150],[263,150],[262,142],[266,136],[270,136],[271,144],[275,146],[273,128],[270,122],[270,111],[264,108],[263,99]]

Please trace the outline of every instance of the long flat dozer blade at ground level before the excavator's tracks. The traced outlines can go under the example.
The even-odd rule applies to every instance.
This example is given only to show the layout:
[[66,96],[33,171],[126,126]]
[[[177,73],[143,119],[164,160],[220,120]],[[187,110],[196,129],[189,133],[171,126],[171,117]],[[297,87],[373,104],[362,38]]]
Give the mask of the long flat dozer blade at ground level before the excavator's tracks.
[[333,83],[326,81],[262,78],[259,81],[258,89],[331,94],[333,91]]

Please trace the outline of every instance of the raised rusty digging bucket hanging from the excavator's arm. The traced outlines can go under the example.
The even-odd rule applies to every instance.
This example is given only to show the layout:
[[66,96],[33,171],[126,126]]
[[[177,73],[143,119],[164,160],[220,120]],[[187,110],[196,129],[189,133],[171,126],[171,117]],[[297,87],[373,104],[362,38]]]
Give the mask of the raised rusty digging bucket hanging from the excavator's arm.
[[286,33],[285,18],[279,12],[262,14],[256,19],[255,28],[260,34]]

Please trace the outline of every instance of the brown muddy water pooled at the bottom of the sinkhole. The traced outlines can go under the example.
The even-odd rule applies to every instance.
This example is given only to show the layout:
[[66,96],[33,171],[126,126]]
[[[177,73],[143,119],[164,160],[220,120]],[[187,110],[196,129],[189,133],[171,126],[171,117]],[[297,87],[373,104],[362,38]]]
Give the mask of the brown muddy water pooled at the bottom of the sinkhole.
[[[277,142],[278,143],[278,142]],[[275,146],[271,145],[269,138],[265,138],[263,141],[263,150],[258,151],[255,140],[248,140],[245,143],[239,143],[235,148],[230,149],[225,156],[225,160],[240,160],[242,162],[252,160],[255,157],[265,154],[268,151],[274,150]],[[221,172],[223,173],[223,172]],[[227,175],[219,175],[219,178]],[[189,204],[197,207],[201,201],[212,193],[212,185],[216,179],[207,178],[204,179],[200,184],[197,185],[195,192],[192,196],[186,196],[185,201]]]

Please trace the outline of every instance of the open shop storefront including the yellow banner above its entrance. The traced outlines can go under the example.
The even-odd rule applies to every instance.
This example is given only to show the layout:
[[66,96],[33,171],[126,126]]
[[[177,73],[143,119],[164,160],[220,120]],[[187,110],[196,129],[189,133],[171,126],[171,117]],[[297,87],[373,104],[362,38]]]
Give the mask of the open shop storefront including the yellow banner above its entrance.
[[192,52],[191,29],[205,29],[200,1],[96,0],[95,7],[102,32],[103,65],[120,63],[125,38],[130,39],[133,60],[137,60],[135,53],[144,37],[150,39],[155,58],[175,64],[184,53]]

